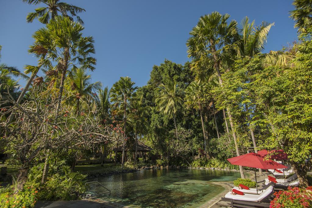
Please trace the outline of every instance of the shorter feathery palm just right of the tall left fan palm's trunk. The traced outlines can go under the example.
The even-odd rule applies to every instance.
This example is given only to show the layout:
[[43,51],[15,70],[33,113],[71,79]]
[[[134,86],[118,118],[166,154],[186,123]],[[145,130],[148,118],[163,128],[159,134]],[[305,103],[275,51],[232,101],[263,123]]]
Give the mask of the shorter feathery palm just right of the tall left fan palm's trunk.
[[[100,82],[91,83],[91,75],[88,75],[83,68],[75,68],[69,73],[67,88],[74,93],[78,115],[80,114],[80,100],[84,101],[86,96],[92,95],[92,90],[98,89],[100,86]],[[70,100],[67,99],[67,101]]]

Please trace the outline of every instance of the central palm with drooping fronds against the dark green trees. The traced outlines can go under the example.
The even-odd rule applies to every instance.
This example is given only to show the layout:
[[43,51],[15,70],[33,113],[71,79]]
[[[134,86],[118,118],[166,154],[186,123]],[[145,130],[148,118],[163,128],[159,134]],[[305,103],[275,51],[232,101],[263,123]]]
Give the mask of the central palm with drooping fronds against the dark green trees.
[[178,127],[175,114],[177,113],[178,107],[182,106],[184,103],[182,93],[177,91],[177,84],[170,79],[165,80],[165,84],[160,83],[157,91],[158,95],[156,95],[155,99],[157,109],[170,118],[173,117],[176,137],[178,139]]

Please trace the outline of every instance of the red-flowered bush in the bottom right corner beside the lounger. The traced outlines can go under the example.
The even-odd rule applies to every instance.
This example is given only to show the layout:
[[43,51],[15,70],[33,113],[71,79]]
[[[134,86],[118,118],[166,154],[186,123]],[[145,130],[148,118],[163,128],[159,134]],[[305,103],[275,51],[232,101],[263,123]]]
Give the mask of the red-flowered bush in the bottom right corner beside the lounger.
[[286,191],[274,193],[270,208],[309,208],[312,207],[312,186],[307,188],[288,187]]

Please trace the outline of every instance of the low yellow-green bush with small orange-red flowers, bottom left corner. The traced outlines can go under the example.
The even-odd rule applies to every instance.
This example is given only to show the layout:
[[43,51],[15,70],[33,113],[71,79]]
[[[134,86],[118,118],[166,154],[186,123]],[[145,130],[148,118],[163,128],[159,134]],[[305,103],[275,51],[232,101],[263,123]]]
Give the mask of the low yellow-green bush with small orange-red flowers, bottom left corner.
[[1,208],[34,207],[37,201],[38,190],[34,186],[24,186],[22,191],[14,193],[14,186],[0,187]]

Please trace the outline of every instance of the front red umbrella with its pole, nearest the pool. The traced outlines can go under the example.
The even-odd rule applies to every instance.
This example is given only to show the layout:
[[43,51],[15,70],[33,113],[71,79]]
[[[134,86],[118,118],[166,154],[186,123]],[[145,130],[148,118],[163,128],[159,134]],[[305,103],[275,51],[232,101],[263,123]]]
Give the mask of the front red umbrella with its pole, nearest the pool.
[[[232,165],[241,165],[245,167],[254,167],[261,169],[277,169],[277,168],[286,168],[286,166],[275,162],[273,160],[264,160],[264,157],[256,153],[248,153],[237,157],[232,157],[227,159]],[[257,183],[257,175],[255,170],[255,177]],[[257,194],[258,194],[258,185],[256,185]]]

